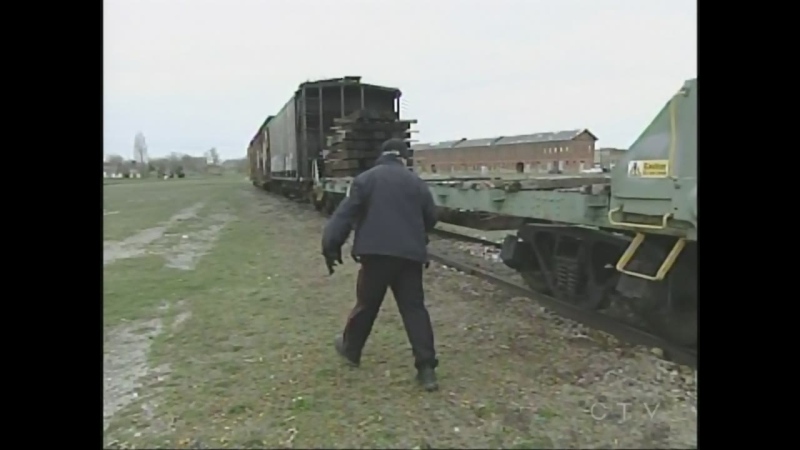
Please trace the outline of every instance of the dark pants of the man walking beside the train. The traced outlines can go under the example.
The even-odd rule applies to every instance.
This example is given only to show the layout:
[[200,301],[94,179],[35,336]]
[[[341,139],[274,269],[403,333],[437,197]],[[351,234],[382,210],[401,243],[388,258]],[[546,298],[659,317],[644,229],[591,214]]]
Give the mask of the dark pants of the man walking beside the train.
[[356,306],[347,319],[343,336],[347,356],[354,361],[361,359],[361,350],[378,317],[383,298],[387,289],[391,289],[411,343],[414,365],[417,369],[435,369],[438,361],[422,289],[423,264],[392,256],[364,255],[360,259]]

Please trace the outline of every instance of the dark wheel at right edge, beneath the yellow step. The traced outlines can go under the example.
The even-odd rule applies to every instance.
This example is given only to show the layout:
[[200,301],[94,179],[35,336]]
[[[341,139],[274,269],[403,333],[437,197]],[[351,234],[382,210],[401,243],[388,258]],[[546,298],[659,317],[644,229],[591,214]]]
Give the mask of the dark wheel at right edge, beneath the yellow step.
[[650,306],[640,313],[659,336],[678,345],[697,344],[697,257],[687,248],[662,282],[650,282]]

